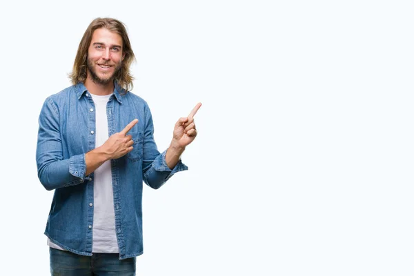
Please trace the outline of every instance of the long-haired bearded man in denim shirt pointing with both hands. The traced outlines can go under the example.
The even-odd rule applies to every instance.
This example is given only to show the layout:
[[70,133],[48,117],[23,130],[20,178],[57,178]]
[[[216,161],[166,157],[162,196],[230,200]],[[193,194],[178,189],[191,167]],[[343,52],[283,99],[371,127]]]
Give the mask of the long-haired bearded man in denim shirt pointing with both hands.
[[160,153],[146,101],[128,92],[134,59],[124,24],[95,19],[79,43],[73,86],[43,103],[36,158],[41,184],[55,190],[45,231],[52,275],[135,275],[142,182],[157,189],[187,170],[180,156],[197,136],[201,103]]

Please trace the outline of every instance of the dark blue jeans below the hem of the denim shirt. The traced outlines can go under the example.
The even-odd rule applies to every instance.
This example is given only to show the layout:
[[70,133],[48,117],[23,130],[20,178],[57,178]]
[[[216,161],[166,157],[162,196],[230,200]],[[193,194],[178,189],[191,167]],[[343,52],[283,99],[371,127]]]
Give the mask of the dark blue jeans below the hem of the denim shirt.
[[136,258],[119,260],[117,253],[93,253],[83,256],[50,248],[50,275],[65,276],[135,276]]

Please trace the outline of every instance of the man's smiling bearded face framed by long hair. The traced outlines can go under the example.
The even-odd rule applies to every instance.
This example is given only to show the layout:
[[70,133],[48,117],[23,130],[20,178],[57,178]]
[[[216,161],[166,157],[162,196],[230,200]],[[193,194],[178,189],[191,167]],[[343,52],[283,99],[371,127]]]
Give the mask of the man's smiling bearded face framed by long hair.
[[110,83],[121,70],[124,56],[119,34],[106,28],[95,30],[88,48],[88,78],[101,85]]

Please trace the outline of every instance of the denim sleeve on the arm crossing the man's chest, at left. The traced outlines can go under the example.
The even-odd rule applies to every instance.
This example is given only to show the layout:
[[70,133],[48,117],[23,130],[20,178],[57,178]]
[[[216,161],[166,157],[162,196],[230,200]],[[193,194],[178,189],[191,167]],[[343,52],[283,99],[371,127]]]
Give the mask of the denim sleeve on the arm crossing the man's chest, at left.
[[46,190],[81,184],[85,179],[85,154],[63,160],[59,112],[50,98],[39,115],[36,163],[37,176]]

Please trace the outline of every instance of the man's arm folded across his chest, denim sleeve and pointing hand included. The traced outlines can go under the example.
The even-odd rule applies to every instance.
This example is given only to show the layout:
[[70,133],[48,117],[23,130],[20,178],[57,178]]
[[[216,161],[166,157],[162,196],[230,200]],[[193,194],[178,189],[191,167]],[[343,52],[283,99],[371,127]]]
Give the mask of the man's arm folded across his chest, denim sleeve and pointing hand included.
[[124,130],[112,135],[102,146],[86,154],[63,159],[59,113],[50,98],[43,103],[39,116],[37,138],[37,173],[46,190],[53,190],[83,183],[90,175],[109,159],[119,158],[132,150],[132,137],[126,132],[137,124],[132,121]]

